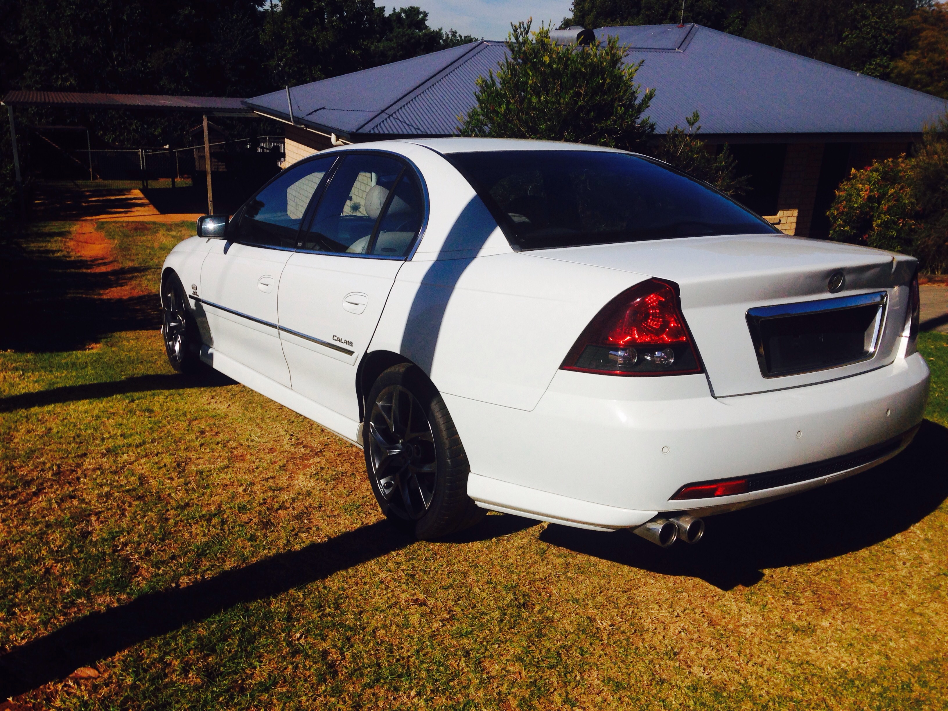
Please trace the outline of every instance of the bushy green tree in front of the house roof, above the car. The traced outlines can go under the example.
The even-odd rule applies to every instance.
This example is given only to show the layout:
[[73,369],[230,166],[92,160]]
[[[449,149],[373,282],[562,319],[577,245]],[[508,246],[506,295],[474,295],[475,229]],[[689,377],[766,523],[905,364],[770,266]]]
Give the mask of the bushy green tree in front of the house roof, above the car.
[[614,39],[557,46],[548,27],[531,32],[530,25],[511,25],[509,54],[496,75],[478,79],[462,135],[641,147],[655,130],[644,115],[655,92],[634,82],[641,63],[626,64]]

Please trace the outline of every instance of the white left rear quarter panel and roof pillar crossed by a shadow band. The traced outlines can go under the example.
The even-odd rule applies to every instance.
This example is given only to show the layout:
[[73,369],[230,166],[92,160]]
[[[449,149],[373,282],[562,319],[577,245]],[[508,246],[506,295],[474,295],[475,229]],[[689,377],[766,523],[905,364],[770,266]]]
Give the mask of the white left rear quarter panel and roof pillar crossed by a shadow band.
[[428,191],[428,224],[398,272],[370,351],[419,365],[441,392],[533,410],[600,308],[644,277],[515,252],[447,160],[402,144]]

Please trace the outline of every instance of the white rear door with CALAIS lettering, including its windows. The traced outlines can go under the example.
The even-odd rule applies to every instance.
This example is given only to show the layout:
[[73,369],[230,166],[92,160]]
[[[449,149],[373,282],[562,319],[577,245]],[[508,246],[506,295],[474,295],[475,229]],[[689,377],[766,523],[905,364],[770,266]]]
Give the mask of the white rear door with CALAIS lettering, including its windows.
[[425,214],[414,172],[391,155],[346,155],[280,282],[293,390],[358,420],[356,365]]

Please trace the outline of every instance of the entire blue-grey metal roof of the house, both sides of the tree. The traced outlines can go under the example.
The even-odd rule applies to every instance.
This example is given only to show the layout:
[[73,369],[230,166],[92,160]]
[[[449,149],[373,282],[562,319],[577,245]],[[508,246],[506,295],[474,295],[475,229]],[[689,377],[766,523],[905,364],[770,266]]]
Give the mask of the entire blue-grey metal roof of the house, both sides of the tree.
[[[657,90],[648,116],[659,132],[696,109],[705,135],[921,133],[948,102],[890,82],[698,25],[602,27],[636,75]],[[506,56],[480,41],[290,89],[298,125],[343,137],[450,136],[474,105],[475,82]],[[286,92],[247,99],[289,120]]]

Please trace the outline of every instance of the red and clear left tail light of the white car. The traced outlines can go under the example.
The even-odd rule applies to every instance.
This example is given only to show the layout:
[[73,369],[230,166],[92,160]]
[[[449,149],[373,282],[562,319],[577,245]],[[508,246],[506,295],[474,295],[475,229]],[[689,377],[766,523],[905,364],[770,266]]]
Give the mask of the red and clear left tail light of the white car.
[[560,366],[608,375],[701,373],[672,283],[649,279],[622,292],[580,334]]

